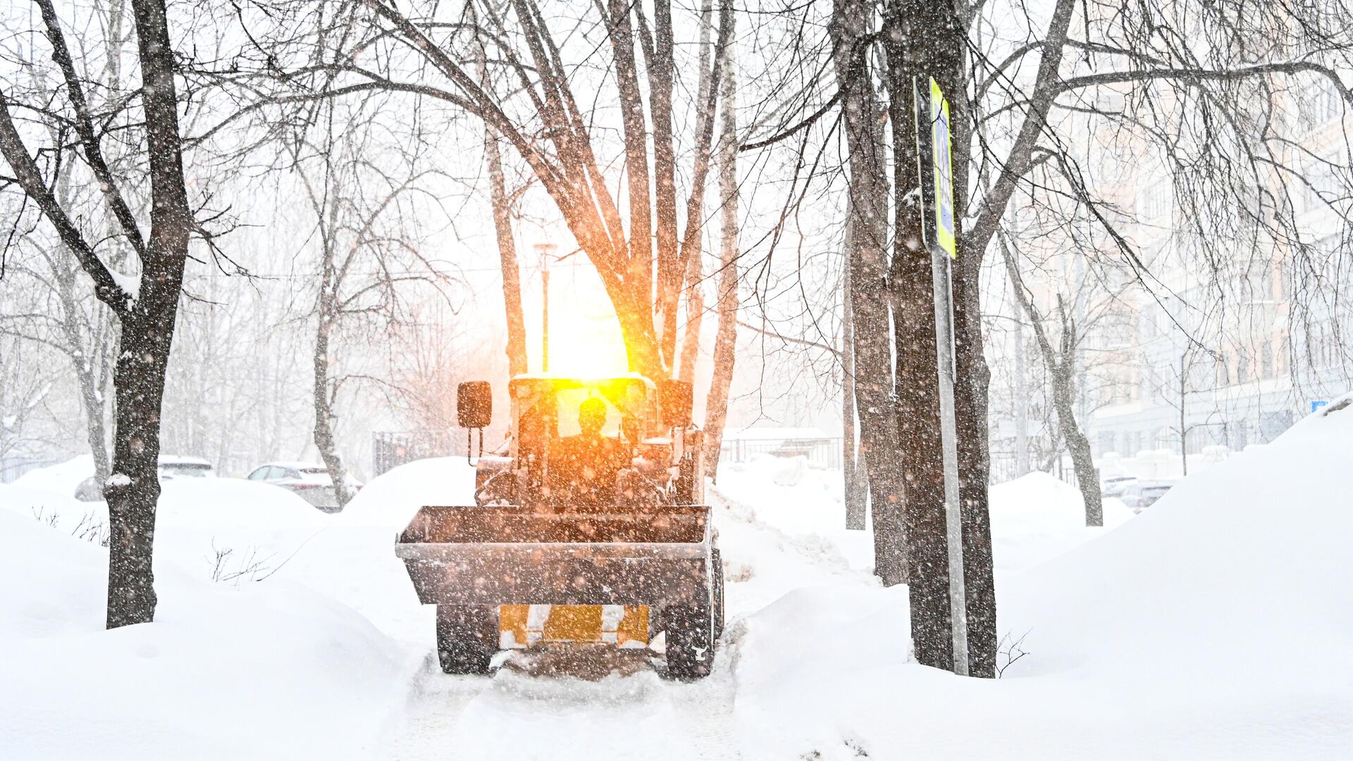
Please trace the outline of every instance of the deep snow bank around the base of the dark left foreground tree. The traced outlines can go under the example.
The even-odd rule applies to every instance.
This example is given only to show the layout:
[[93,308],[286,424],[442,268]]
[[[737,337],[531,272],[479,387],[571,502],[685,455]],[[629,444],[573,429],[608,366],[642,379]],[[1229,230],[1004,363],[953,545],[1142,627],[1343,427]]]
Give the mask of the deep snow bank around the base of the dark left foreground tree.
[[295,584],[156,565],[156,623],[103,631],[107,551],[0,510],[0,757],[373,753],[413,654]]

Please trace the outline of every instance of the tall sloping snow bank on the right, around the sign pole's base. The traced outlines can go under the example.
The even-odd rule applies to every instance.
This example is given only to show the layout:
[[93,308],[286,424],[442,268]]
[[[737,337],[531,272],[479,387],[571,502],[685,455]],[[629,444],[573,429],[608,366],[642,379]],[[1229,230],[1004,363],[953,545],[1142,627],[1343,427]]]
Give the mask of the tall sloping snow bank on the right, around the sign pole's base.
[[1312,416],[1078,548],[999,570],[999,631],[1023,638],[1000,662],[1028,653],[999,681],[908,662],[904,589],[793,592],[736,632],[744,753],[1350,757],[1350,464],[1353,408]]

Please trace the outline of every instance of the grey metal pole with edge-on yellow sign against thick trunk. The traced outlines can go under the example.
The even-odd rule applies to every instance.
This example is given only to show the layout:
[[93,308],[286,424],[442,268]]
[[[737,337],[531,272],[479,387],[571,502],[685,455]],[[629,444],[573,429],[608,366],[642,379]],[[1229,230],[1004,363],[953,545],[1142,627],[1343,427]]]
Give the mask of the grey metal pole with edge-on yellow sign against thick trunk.
[[958,494],[958,424],[954,418],[954,288],[950,264],[954,238],[954,168],[950,157],[948,102],[932,77],[916,81],[917,164],[925,242],[935,291],[935,348],[939,364],[939,418],[944,455],[944,527],[948,544],[948,605],[954,634],[954,673],[967,676],[967,590],[963,584],[963,516]]

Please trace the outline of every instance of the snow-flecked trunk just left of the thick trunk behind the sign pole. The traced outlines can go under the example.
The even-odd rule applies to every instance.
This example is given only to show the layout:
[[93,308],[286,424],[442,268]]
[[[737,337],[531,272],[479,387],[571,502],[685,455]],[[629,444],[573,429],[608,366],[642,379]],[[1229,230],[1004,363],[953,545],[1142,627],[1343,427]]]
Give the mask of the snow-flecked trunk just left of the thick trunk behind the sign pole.
[[873,4],[836,0],[831,35],[842,88],[847,179],[847,248],[851,318],[855,333],[854,391],[859,410],[859,456],[865,463],[874,527],[874,573],[886,585],[907,582],[905,494],[897,418],[892,405],[893,355],[888,294],[888,172],[884,165],[881,107],[874,92],[867,37]]

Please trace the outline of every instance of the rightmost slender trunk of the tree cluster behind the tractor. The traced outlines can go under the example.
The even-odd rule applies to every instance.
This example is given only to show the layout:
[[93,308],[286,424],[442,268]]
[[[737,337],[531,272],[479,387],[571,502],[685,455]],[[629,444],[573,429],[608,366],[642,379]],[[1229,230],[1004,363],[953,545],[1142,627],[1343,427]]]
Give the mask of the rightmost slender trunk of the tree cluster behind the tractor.
[[[721,23],[732,28],[732,1],[720,7]],[[728,393],[733,383],[737,349],[737,80],[732,42],[724,51],[720,88],[721,125],[718,135],[718,329],[714,334],[714,376],[705,404],[705,471],[718,478],[718,452],[724,444]]]

